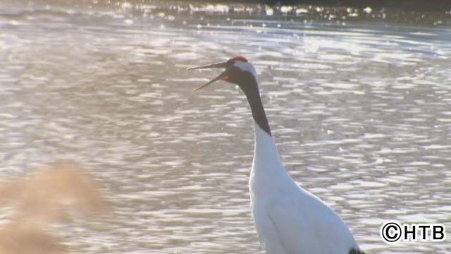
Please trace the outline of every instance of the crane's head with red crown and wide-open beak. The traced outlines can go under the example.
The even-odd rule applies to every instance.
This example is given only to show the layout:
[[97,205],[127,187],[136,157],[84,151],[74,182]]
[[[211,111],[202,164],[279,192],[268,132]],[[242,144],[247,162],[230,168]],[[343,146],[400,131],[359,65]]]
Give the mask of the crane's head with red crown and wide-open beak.
[[249,61],[247,61],[247,59],[243,56],[235,56],[225,62],[188,68],[188,70],[200,68],[225,68],[226,70],[219,74],[216,78],[210,80],[208,83],[194,88],[194,91],[206,87],[217,80],[224,80],[228,83],[240,85],[242,90],[246,90],[246,86],[249,84],[257,84],[257,72],[255,71],[254,66],[252,66],[252,64],[249,63]]

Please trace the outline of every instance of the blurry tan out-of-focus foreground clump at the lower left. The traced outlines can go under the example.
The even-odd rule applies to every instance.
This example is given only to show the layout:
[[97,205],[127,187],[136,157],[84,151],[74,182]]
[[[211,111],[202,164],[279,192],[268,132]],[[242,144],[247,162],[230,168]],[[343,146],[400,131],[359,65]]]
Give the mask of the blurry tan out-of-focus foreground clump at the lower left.
[[25,180],[0,183],[0,205],[14,207],[0,230],[0,254],[66,253],[47,231],[68,212],[89,215],[106,206],[97,183],[74,164],[38,169]]

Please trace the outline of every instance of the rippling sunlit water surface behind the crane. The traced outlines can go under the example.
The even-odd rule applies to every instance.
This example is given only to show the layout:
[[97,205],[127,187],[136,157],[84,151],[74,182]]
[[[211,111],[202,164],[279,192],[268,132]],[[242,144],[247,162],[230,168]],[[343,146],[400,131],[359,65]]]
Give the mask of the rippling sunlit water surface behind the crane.
[[237,54],[257,68],[290,175],[362,248],[450,251],[379,236],[388,219],[451,229],[449,22],[69,7],[0,8],[0,174],[56,159],[94,171],[116,209],[58,231],[74,253],[264,253],[245,96],[192,92],[218,70],[185,70]]

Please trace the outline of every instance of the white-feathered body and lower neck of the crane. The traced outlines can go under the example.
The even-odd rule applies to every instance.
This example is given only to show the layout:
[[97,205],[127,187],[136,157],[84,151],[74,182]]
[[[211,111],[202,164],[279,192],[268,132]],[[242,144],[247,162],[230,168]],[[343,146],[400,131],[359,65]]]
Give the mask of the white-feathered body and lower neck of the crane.
[[351,248],[359,250],[338,214],[292,181],[273,138],[258,124],[249,191],[257,233],[267,253],[347,254]]

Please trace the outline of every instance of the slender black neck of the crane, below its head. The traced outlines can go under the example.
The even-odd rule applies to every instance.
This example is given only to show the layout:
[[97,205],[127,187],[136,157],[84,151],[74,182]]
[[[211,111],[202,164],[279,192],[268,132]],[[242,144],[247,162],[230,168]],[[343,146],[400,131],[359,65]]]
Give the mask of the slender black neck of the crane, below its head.
[[255,80],[254,76],[249,75],[248,78],[243,80],[243,84],[240,85],[240,87],[243,92],[245,92],[247,102],[249,102],[249,106],[251,107],[254,121],[260,126],[261,129],[268,133],[268,135],[271,135],[271,129],[269,128],[265,109],[261,103],[260,90],[257,85],[257,80]]

